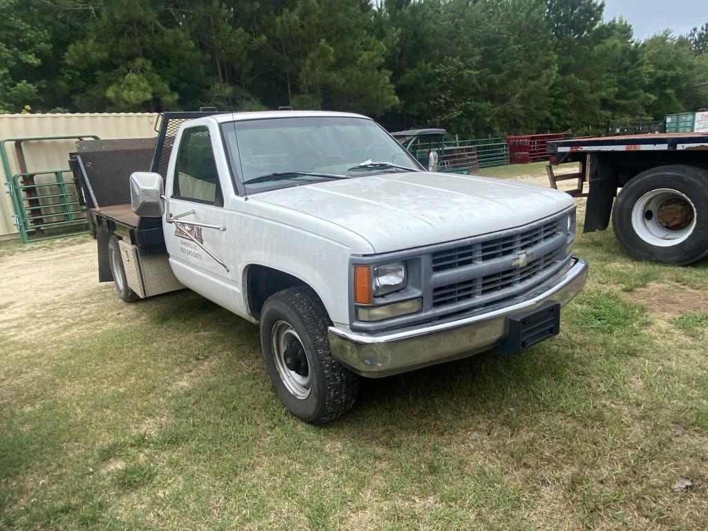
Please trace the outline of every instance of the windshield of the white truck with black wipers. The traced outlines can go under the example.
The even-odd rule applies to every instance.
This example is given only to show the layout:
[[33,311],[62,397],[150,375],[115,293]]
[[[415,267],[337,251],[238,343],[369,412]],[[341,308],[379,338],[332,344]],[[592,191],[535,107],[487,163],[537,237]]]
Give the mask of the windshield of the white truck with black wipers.
[[232,171],[246,193],[374,173],[421,171],[372,120],[268,118],[222,125]]

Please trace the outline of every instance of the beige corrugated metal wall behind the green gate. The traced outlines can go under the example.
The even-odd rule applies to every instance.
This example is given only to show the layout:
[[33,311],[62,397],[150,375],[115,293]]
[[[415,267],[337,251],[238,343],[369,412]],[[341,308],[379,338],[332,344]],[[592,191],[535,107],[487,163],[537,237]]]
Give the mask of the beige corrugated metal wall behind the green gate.
[[[158,119],[153,113],[103,114],[6,114],[0,115],[0,139],[18,137],[47,137],[53,135],[97,135],[101,139],[155,137]],[[7,144],[11,169],[18,173],[13,144]],[[28,171],[68,168],[69,152],[76,151],[71,140],[53,142],[24,142],[23,150]],[[0,173],[2,171],[0,170]],[[5,177],[0,180],[4,184]],[[0,191],[0,239],[16,234],[12,224],[10,196]]]

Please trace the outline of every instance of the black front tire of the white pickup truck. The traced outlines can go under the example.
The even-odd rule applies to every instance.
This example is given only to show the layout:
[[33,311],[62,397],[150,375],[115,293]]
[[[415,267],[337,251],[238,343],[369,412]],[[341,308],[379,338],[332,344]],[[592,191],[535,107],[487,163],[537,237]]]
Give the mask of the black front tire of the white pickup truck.
[[[304,286],[290,287],[271,295],[261,311],[261,346],[270,381],[287,409],[297,418],[311,424],[326,423],[346,413],[353,406],[359,387],[358,376],[331,354],[327,336],[330,324],[319,297],[311,288]],[[282,337],[282,329],[290,337],[288,348],[295,345],[296,350],[292,352],[297,352],[300,357],[294,370],[285,367],[285,353],[278,358],[282,349],[275,343],[278,343],[277,338]],[[298,344],[302,350],[297,349]],[[307,367],[302,365],[303,355]],[[292,362],[292,357],[289,361]],[[280,363],[283,375],[277,363]],[[297,375],[299,379],[309,378],[309,384],[301,384],[299,387],[302,389],[296,389],[296,392],[299,390],[303,394],[307,392],[307,396],[298,397],[287,387],[293,385],[292,377],[296,370],[302,373]]]

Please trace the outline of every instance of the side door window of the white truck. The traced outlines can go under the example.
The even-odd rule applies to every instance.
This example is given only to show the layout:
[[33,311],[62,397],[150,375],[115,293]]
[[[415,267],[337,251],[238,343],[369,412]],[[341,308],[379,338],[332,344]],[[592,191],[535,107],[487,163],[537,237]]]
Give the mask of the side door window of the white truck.
[[177,152],[172,196],[209,205],[224,205],[207,127],[191,127],[184,131]]

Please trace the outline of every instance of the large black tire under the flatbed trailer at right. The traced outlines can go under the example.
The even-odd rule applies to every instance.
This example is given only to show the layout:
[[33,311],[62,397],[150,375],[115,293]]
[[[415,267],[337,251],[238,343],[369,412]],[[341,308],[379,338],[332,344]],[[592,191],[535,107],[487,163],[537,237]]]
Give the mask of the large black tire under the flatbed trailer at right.
[[[662,193],[662,189],[670,192]],[[662,199],[664,197],[667,199]],[[663,246],[661,237],[653,236],[647,227],[661,231],[666,225],[666,218],[657,216],[656,212],[669,200],[681,205],[680,216],[671,220],[672,231],[668,232],[675,235],[678,243]],[[708,171],[673,164],[639,173],[617,195],[612,208],[612,229],[634,258],[675,265],[700,260],[708,254]]]

